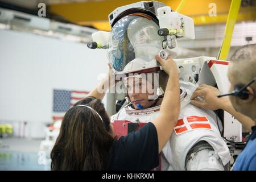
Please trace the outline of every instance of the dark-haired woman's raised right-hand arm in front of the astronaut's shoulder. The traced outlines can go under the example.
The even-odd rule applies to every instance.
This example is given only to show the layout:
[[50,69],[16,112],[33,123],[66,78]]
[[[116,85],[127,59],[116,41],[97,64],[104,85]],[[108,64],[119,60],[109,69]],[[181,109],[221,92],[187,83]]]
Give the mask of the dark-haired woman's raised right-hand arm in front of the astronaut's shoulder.
[[163,60],[160,56],[155,57],[169,75],[166,91],[160,107],[160,115],[152,123],[158,133],[158,150],[166,145],[177,123],[180,113],[180,85],[177,65],[171,56]]

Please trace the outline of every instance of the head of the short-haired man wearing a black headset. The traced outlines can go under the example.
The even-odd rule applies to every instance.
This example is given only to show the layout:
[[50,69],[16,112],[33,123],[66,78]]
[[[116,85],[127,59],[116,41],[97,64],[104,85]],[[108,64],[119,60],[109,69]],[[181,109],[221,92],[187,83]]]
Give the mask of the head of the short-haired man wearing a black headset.
[[[230,59],[228,77],[231,83],[230,90],[234,89],[234,85],[246,85],[255,79],[256,44],[244,46],[234,53]],[[245,92],[249,94],[247,99],[241,100],[239,97],[230,97],[230,101],[237,111],[256,121],[256,82],[247,86],[246,89]]]

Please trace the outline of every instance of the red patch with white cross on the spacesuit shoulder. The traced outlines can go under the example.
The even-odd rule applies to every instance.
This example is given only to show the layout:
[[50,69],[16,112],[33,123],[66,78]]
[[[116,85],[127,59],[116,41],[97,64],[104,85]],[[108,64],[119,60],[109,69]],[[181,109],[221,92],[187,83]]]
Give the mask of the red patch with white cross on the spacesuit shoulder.
[[189,117],[179,119],[177,121],[177,125],[174,127],[176,135],[196,129],[212,130],[210,122],[206,116],[191,115]]

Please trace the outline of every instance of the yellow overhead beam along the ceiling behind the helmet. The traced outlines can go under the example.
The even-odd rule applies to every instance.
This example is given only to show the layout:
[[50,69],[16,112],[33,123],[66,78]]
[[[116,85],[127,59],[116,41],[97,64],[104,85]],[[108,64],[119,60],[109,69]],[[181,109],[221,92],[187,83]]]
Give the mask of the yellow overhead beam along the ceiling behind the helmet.
[[[61,5],[51,5],[51,13],[63,16],[69,21],[85,25],[94,26],[99,30],[109,31],[108,15],[117,7],[138,2],[134,0],[110,0],[110,1],[89,1],[77,3],[65,3]],[[160,2],[176,10],[181,0],[162,0]],[[187,0],[179,13],[193,18],[195,25],[225,23],[228,18],[231,0]],[[209,12],[216,6],[216,16],[209,16]],[[242,1],[237,22],[246,20],[256,20],[255,0]]]

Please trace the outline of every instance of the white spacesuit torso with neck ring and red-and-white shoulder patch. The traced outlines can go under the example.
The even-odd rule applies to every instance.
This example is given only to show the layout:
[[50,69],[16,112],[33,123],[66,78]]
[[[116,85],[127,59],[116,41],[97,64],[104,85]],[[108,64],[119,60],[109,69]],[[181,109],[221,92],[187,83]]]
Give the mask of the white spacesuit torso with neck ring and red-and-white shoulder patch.
[[[186,170],[186,156],[189,150],[201,140],[208,142],[212,146],[217,158],[225,166],[231,156],[229,148],[221,138],[218,130],[216,114],[213,111],[203,110],[189,104],[191,94],[195,89],[191,89],[192,85],[180,85],[181,89],[186,90],[187,93],[181,97],[179,121],[174,128],[170,141],[162,150],[160,169]],[[141,110],[135,110],[125,106],[117,114],[112,116],[112,122],[115,120],[151,122],[158,117],[160,114],[159,110],[160,106]],[[201,167],[201,169],[204,169],[204,167]]]

